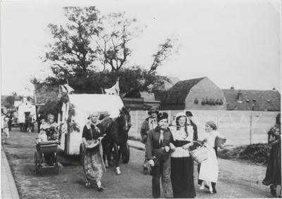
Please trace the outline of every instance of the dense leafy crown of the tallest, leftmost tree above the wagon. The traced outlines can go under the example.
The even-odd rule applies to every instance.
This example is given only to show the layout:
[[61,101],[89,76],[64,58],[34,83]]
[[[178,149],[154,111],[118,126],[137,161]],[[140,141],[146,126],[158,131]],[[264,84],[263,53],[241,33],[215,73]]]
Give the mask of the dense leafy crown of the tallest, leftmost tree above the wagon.
[[64,7],[63,10],[68,23],[64,27],[48,25],[56,42],[49,44],[46,59],[51,62],[51,69],[57,78],[83,76],[95,68],[97,53],[90,44],[102,30],[99,11],[94,6]]

